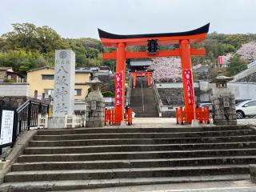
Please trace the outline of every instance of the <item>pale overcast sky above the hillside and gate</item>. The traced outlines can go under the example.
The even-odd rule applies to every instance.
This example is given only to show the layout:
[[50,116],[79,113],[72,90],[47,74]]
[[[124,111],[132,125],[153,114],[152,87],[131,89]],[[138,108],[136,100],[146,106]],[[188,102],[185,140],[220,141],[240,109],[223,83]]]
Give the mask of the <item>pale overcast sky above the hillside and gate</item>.
[[11,23],[50,26],[64,38],[193,30],[256,34],[256,0],[0,0],[0,34]]

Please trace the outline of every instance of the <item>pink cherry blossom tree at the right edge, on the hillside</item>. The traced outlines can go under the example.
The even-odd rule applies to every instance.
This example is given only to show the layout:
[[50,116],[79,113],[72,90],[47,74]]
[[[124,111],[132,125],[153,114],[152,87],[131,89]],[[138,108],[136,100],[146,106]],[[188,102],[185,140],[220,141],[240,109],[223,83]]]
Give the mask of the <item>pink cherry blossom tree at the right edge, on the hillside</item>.
[[237,51],[237,54],[247,62],[256,60],[256,42],[247,42]]

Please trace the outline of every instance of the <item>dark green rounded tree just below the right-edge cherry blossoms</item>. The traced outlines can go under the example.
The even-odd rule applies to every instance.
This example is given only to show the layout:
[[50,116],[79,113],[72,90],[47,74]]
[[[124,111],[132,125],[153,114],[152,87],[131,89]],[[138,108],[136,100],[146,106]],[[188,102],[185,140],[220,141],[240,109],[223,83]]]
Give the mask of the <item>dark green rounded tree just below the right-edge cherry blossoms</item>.
[[234,54],[234,56],[230,58],[230,63],[226,68],[226,74],[228,76],[234,76],[240,71],[246,70],[246,68],[246,61],[240,58],[237,54]]

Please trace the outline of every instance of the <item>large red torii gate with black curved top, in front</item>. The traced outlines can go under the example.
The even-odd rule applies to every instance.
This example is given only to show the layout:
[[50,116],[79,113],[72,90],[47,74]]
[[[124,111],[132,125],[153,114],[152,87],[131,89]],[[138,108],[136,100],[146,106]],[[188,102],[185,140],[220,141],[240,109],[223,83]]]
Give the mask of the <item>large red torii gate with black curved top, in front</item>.
[[[179,56],[182,64],[182,82],[183,94],[186,111],[190,114],[195,113],[194,103],[194,86],[192,77],[191,56],[204,55],[205,50],[190,48],[190,43],[202,42],[206,38],[209,31],[210,23],[196,30],[178,33],[166,34],[131,34],[119,35],[110,34],[106,31],[98,29],[99,37],[104,46],[116,46],[117,50],[112,53],[103,53],[103,59],[116,59],[116,74],[115,74],[115,123],[119,124],[124,119],[125,109],[125,81],[126,81],[126,58],[157,58]],[[149,54],[147,51],[130,52],[126,51],[126,46],[146,46],[149,41],[154,40],[158,45],[179,44],[176,50],[161,50],[154,54]],[[190,114],[186,114],[189,116]],[[187,122],[191,122],[195,118],[190,115]]]

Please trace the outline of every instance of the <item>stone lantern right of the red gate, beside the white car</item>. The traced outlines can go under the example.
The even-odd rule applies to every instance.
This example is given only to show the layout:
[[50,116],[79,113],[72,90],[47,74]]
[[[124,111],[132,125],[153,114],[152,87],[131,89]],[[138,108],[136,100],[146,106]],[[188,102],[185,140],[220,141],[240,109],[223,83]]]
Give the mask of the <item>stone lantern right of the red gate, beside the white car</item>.
[[218,71],[217,78],[214,78],[213,82],[216,83],[216,89],[210,100],[213,104],[212,112],[215,125],[237,124],[234,94],[227,88],[227,82],[232,79],[224,76],[221,70]]

